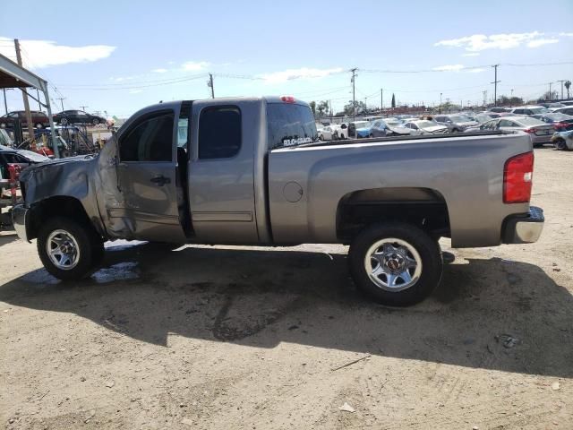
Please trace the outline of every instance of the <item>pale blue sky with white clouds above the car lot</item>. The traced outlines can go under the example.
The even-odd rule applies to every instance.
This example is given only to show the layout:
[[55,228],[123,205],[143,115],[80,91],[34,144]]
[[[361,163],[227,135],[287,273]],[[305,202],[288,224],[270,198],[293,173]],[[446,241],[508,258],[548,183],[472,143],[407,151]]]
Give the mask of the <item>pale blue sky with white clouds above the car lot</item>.
[[[86,107],[126,117],[159,100],[294,95],[464,105],[498,96],[536,99],[573,81],[573,1],[217,1],[58,0],[4,2],[0,53],[49,84],[54,111]],[[38,8],[35,7],[38,5]],[[22,25],[25,22],[26,25]],[[535,65],[511,65],[535,64]],[[573,93],[573,89],[571,89]],[[17,90],[8,110],[22,108]],[[32,108],[38,104],[31,101]],[[0,113],[4,114],[3,101]]]

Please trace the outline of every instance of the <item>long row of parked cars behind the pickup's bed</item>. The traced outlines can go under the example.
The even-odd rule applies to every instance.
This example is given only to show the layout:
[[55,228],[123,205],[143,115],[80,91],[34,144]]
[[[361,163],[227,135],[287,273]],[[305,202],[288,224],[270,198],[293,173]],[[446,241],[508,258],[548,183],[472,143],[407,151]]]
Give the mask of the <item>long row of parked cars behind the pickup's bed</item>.
[[[495,110],[495,111],[494,111]],[[341,124],[317,124],[319,139],[359,139],[399,135],[439,133],[472,133],[480,130],[507,130],[529,133],[535,146],[554,142],[560,149],[567,146],[560,135],[573,130],[573,106],[522,106],[461,112],[449,115],[381,116]]]

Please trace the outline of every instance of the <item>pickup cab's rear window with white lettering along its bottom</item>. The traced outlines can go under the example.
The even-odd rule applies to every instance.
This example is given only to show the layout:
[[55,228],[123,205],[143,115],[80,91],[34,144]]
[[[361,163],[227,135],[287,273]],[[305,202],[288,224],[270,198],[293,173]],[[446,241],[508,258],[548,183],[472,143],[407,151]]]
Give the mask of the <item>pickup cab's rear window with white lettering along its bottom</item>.
[[269,149],[318,140],[311,108],[293,103],[268,103]]

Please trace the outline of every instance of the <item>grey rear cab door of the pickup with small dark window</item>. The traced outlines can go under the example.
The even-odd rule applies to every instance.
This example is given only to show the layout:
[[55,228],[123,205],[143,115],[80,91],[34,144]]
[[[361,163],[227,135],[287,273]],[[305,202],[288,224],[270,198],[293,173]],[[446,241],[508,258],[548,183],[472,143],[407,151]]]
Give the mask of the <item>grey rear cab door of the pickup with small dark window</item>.
[[260,125],[260,100],[193,102],[189,202],[198,241],[259,241],[254,160]]

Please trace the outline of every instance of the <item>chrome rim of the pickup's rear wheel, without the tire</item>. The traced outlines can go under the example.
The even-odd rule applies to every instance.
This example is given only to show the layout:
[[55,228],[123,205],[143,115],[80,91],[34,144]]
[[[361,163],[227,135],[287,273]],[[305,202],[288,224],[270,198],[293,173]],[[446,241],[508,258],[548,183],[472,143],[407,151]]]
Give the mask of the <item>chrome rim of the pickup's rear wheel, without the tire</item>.
[[422,257],[405,240],[388,237],[375,242],[364,257],[364,269],[376,287],[386,291],[411,288],[422,275]]

